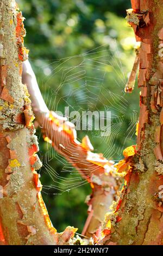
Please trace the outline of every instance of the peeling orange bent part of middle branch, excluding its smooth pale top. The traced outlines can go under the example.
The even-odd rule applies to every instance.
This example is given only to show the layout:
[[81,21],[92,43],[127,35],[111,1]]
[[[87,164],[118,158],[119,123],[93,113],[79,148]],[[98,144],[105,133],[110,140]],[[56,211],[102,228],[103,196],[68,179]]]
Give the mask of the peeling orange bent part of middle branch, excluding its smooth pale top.
[[[113,162],[106,160],[102,154],[92,153],[90,150],[93,148],[88,137],[79,143],[70,127],[59,123],[53,113],[43,120],[41,126],[45,139],[50,141],[55,150],[66,157],[78,169],[83,178],[91,184],[92,194],[87,204],[91,205],[93,211],[89,212],[82,233],[91,237],[97,233],[104,215],[116,196],[119,181],[115,179]],[[77,154],[77,157],[73,157],[74,153]]]

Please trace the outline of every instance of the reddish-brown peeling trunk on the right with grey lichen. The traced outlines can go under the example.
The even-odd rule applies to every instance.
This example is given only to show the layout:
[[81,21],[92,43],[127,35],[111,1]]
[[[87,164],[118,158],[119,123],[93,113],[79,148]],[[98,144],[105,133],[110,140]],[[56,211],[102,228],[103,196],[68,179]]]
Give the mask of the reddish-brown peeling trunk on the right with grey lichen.
[[141,41],[140,116],[136,148],[124,151],[117,172],[125,184],[103,223],[105,244],[163,245],[163,2],[133,0],[127,21]]

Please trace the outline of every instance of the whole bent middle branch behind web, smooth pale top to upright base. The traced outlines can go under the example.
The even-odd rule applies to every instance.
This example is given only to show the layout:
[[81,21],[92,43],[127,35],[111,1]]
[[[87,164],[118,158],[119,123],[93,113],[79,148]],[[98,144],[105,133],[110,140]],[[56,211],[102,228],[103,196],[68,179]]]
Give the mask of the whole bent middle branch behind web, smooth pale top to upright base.
[[[54,112],[49,112],[45,102],[40,94],[36,78],[30,67],[29,62],[23,66],[23,82],[31,94],[33,111],[37,123],[42,127],[43,138],[51,143],[58,153],[79,170],[79,173],[91,184],[92,194],[87,202],[93,210],[93,215],[88,211],[88,219],[84,228],[87,237],[97,235],[99,227],[108,211],[112,200],[115,199],[119,180],[115,179],[115,168],[113,162],[106,160],[102,154],[92,153],[93,147],[90,140],[85,136],[82,143],[77,141],[76,130],[74,126],[61,118]],[[37,88],[35,90],[35,88]],[[41,104],[40,104],[41,102]],[[35,164],[36,145],[30,145],[29,156],[32,170]],[[33,164],[34,163],[34,164]],[[40,190],[39,176],[34,173],[34,184],[36,190]]]

